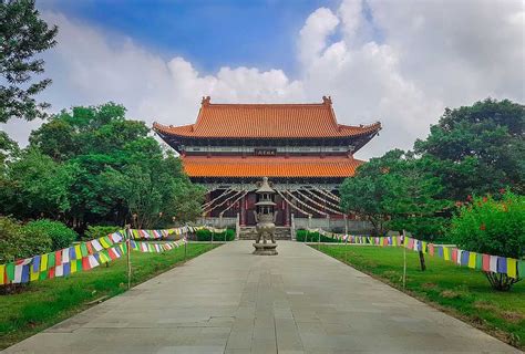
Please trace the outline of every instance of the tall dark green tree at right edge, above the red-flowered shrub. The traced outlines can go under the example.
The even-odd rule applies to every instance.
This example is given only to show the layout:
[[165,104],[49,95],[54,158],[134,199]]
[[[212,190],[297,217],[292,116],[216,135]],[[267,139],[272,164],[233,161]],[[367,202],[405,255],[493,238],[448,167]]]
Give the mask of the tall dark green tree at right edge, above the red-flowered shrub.
[[487,98],[472,106],[446,108],[415,153],[432,163],[429,171],[444,185],[443,197],[495,192],[511,186],[525,192],[525,106]]

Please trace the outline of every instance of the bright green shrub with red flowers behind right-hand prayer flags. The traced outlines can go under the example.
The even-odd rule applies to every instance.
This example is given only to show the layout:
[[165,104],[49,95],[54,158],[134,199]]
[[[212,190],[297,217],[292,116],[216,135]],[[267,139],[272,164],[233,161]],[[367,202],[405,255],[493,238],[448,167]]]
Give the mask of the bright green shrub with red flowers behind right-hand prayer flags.
[[[462,249],[519,259],[525,253],[525,197],[506,192],[501,200],[474,198],[452,218],[451,239]],[[486,273],[497,290],[515,282],[506,274]],[[522,274],[523,275],[523,274]]]

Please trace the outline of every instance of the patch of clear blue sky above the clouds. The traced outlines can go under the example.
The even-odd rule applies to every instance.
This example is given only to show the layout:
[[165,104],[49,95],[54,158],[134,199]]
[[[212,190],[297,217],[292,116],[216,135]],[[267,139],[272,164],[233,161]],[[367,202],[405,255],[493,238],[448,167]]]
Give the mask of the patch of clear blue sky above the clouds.
[[296,37],[317,8],[329,0],[258,1],[42,1],[104,31],[131,37],[165,59],[184,56],[200,72],[222,66],[284,69],[297,74]]

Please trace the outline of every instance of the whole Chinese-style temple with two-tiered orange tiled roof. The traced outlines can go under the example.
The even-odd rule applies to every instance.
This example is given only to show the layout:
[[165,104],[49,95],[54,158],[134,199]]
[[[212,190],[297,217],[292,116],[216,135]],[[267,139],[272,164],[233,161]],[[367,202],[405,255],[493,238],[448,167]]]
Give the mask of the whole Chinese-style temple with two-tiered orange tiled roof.
[[339,124],[330,97],[313,104],[216,104],[208,96],[195,124],[153,127],[181,155],[192,181],[207,188],[208,220],[254,226],[256,183],[266,176],[277,190],[276,225],[289,227],[301,219],[302,226],[347,219],[338,188],[363,163],[353,154],[381,124]]

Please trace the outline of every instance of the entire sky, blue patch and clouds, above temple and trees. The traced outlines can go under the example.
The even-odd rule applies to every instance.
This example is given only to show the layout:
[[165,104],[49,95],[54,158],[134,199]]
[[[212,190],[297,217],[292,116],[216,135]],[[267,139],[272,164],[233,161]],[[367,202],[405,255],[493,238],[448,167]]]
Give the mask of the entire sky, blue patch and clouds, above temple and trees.
[[[411,148],[444,107],[525,102],[523,0],[37,1],[60,28],[44,54],[53,111],[124,104],[193,123],[212,102],[321,102],[340,123],[381,121],[358,157]],[[25,144],[40,122],[3,126]],[[305,122],[308,124],[308,122]]]

